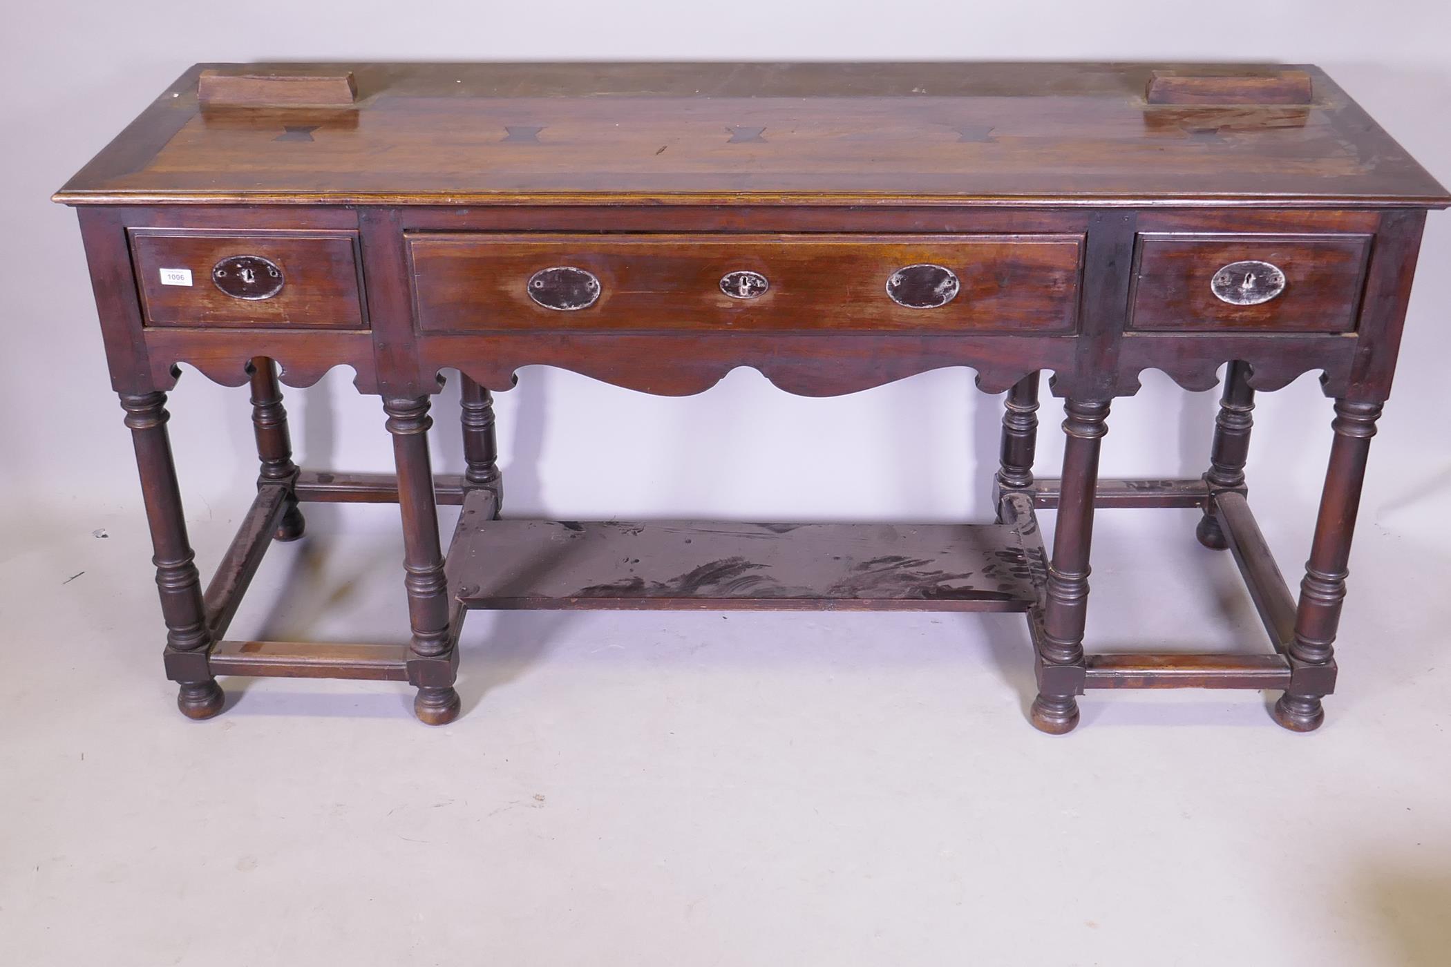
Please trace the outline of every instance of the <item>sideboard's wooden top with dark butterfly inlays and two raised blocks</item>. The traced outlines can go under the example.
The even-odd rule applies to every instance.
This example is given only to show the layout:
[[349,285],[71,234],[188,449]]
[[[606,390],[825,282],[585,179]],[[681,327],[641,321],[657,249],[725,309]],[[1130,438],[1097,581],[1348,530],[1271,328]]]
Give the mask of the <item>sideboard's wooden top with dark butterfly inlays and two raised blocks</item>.
[[[203,104],[203,70],[357,94]],[[1151,103],[1154,71],[1309,96]],[[1451,204],[1319,68],[1174,64],[199,64],[57,200]]]

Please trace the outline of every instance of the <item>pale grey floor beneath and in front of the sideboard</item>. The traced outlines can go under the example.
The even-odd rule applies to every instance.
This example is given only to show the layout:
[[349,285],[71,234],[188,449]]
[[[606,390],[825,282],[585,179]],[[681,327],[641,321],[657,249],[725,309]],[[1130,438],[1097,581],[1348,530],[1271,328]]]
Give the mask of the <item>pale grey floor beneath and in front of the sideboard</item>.
[[[400,639],[363,513],[316,509],[235,634]],[[1049,738],[1022,619],[930,613],[477,613],[447,728],[281,680],[193,723],[142,520],[80,516],[0,565],[4,964],[1451,963],[1451,568],[1413,528],[1362,522],[1320,732],[1096,693]],[[207,567],[235,522],[193,523]],[[1191,529],[1100,515],[1091,644],[1259,641]]]

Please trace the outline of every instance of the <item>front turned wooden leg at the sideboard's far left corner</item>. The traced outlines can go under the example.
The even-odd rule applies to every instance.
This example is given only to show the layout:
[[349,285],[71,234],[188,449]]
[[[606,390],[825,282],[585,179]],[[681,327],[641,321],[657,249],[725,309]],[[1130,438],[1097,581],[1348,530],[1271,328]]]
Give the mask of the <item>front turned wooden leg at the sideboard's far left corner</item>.
[[222,710],[222,689],[207,671],[212,631],[202,603],[202,578],[186,534],[181,491],[177,486],[171,441],[167,436],[167,394],[120,394],[126,426],[136,448],[141,494],[155,552],[161,618],[167,623],[167,677],[180,684],[177,707],[192,719],[209,719]]

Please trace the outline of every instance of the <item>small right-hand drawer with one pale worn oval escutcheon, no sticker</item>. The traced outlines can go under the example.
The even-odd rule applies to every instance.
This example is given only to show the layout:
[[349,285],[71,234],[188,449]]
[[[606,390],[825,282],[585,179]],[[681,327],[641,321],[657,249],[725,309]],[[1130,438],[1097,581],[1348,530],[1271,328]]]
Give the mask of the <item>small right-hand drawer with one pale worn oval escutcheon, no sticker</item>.
[[1142,233],[1129,329],[1352,332],[1370,235]]

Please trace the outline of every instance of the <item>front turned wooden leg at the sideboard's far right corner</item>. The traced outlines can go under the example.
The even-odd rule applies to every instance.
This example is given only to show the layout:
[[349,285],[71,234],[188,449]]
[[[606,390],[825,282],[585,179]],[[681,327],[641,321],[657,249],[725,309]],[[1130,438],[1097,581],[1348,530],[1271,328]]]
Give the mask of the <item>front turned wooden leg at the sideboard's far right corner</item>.
[[1275,721],[1294,732],[1310,732],[1325,721],[1320,699],[1335,689],[1335,632],[1341,623],[1345,578],[1360,509],[1370,438],[1376,435],[1380,403],[1335,402],[1335,442],[1325,471],[1320,513],[1315,522],[1310,560],[1300,581],[1300,605],[1290,642],[1290,687],[1274,706]]

